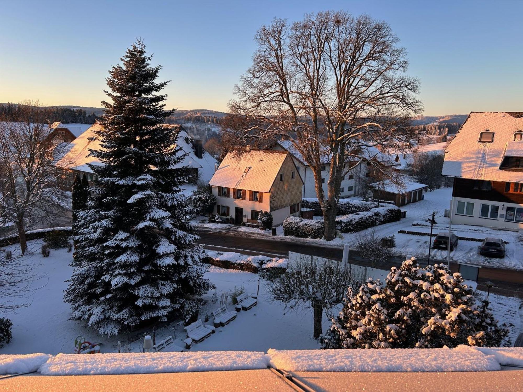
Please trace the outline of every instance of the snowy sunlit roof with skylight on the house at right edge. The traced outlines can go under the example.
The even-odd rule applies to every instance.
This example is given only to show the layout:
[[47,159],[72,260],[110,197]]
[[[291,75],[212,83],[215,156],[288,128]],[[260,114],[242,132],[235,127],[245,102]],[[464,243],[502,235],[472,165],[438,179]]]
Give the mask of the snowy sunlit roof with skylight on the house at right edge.
[[[481,132],[486,130],[494,133],[492,143],[479,142]],[[499,169],[506,151],[515,154],[523,150],[523,145],[518,144],[523,141],[514,142],[514,132],[518,130],[523,130],[523,113],[471,112],[447,147],[442,174],[487,181],[523,181],[521,172]]]

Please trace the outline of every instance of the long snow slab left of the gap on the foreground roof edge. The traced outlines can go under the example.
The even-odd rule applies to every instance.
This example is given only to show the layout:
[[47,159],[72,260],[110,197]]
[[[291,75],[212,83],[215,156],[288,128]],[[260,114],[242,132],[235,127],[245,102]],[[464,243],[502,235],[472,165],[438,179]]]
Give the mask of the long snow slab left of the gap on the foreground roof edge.
[[267,355],[249,351],[58,354],[40,368],[53,376],[208,372],[265,369]]

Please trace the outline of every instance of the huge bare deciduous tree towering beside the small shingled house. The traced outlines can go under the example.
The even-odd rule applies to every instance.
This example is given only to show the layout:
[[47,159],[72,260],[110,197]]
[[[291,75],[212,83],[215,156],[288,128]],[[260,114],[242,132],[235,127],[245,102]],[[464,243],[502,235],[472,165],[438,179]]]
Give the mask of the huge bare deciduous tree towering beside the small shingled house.
[[313,171],[324,236],[331,240],[344,175],[361,159],[385,171],[380,150],[404,151],[417,142],[407,125],[422,110],[418,79],[405,74],[406,51],[389,24],[367,15],[326,11],[293,24],[275,19],[255,40],[253,65],[230,102],[231,113],[246,124],[229,140],[290,141]]

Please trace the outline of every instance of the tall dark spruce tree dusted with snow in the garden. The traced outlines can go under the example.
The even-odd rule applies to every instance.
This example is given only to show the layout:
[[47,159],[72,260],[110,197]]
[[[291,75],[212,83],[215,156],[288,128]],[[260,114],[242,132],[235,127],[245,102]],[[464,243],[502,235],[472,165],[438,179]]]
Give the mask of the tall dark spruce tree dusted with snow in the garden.
[[178,129],[162,125],[165,95],[155,94],[160,66],[139,41],[113,66],[106,108],[96,131],[101,149],[91,153],[102,165],[87,208],[64,299],[72,318],[87,320],[103,335],[163,321],[176,312],[194,314],[212,284],[203,279],[203,250],[194,243],[188,206],[179,193],[184,155],[175,146]]

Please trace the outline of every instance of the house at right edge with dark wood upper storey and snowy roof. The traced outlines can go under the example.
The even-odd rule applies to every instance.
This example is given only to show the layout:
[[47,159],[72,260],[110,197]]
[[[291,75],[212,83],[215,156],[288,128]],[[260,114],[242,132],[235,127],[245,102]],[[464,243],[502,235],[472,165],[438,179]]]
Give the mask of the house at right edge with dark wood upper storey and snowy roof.
[[523,228],[523,113],[472,112],[447,147],[452,223]]

